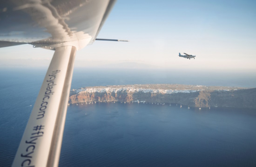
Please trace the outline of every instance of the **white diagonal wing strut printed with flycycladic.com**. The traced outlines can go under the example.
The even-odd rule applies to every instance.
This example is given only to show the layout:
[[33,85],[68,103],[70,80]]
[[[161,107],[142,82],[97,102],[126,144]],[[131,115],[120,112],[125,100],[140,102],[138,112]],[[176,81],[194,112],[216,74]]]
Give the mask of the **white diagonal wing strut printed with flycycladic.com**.
[[58,167],[76,47],[56,48],[13,167]]

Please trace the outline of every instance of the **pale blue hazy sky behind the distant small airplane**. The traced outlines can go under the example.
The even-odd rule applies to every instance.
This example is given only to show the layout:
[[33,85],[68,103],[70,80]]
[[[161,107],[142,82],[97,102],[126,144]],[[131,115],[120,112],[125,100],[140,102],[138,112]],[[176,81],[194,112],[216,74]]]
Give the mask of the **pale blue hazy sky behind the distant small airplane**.
[[[255,0],[117,0],[97,38],[130,42],[95,41],[77,51],[75,66],[255,71],[255,9]],[[53,54],[32,45],[0,48],[0,66],[48,66]]]

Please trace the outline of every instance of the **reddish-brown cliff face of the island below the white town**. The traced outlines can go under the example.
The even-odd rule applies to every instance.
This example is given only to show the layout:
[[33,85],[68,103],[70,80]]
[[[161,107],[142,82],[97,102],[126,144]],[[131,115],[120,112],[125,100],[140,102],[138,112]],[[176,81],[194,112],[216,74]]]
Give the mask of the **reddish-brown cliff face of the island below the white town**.
[[153,92],[94,92],[71,93],[69,103],[83,102],[132,102],[178,103],[190,107],[236,107],[256,109],[256,88],[233,90],[198,90],[190,93],[153,93]]

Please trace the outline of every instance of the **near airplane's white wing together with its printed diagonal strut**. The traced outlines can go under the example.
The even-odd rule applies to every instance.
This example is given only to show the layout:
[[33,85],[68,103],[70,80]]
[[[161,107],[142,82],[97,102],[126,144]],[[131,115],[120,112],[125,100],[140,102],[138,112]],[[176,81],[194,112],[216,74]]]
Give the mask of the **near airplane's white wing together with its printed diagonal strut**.
[[58,166],[75,53],[96,40],[114,3],[115,0],[1,2],[0,47],[31,44],[55,51],[13,167]]

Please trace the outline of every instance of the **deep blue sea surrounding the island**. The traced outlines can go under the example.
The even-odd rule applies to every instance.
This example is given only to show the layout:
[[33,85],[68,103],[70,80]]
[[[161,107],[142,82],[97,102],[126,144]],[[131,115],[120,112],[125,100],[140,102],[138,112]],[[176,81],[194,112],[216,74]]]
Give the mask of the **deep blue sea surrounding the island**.
[[[0,166],[11,166],[46,68],[0,69]],[[75,69],[84,86],[179,83],[256,87],[234,72]],[[32,106],[31,106],[32,105]],[[70,105],[60,167],[256,167],[256,109],[148,103]]]

